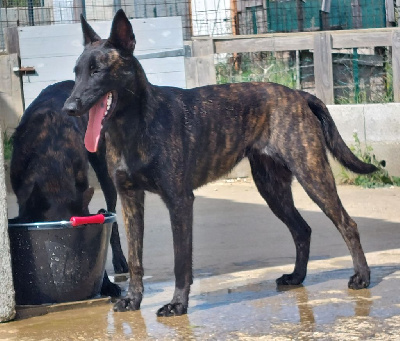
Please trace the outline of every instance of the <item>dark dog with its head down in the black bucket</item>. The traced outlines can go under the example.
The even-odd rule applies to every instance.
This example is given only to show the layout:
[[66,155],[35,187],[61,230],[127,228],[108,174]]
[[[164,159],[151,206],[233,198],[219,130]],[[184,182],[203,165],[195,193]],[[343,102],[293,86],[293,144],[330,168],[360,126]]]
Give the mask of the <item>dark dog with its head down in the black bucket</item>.
[[[88,158],[102,184],[107,209],[115,212],[116,190],[108,176],[105,151],[88,153],[83,144],[87,119],[68,116],[61,110],[73,86],[73,81],[65,81],[44,89],[26,109],[13,135],[10,173],[20,223],[88,215],[93,196]],[[117,223],[113,225],[111,246],[115,271],[127,272]],[[120,289],[105,276],[102,293],[119,296]]]

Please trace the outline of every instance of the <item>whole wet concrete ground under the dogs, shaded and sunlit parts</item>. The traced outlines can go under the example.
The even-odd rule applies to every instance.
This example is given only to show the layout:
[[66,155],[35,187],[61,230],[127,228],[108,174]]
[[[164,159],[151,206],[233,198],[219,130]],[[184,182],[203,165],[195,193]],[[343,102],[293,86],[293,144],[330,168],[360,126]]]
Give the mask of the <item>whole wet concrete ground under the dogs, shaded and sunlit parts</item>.
[[359,224],[371,267],[368,289],[347,289],[353,270],[344,242],[296,184],[297,206],[313,227],[312,260],[303,286],[277,288],[275,279],[293,269],[288,231],[252,184],[219,183],[196,193],[188,315],[155,314],[173,293],[166,280],[172,279],[172,243],[168,216],[150,197],[140,311],[115,313],[104,300],[59,305],[44,316],[1,324],[0,340],[400,340],[400,189],[346,186],[339,193]]

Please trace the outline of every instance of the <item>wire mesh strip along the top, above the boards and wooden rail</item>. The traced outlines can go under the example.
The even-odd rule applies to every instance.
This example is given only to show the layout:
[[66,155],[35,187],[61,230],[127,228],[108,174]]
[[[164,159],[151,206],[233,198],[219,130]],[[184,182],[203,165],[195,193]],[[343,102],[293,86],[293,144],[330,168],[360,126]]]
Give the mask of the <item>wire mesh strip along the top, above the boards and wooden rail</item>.
[[184,39],[378,28],[397,22],[396,5],[393,0],[0,0],[0,34],[10,26],[77,22],[80,13],[88,20],[110,20],[119,8],[131,19],[181,16]]

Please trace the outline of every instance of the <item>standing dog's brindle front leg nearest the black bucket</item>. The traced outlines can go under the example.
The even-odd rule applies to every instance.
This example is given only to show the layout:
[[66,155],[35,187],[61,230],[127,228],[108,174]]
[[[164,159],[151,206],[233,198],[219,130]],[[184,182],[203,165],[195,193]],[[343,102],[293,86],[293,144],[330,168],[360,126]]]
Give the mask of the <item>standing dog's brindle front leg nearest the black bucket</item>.
[[144,191],[119,191],[128,241],[130,282],[126,296],[114,305],[114,311],[138,310],[143,297]]

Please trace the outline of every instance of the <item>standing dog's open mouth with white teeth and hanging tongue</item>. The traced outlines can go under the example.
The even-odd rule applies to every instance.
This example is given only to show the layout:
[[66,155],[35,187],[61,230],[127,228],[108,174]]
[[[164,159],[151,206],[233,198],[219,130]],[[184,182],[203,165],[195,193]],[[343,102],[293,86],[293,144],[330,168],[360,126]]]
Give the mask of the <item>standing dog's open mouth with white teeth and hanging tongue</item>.
[[106,119],[110,118],[117,104],[117,93],[110,91],[102,96],[89,110],[89,122],[85,134],[85,147],[91,152],[97,151],[101,130]]

